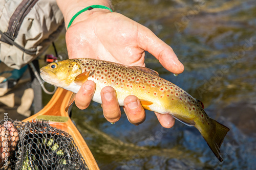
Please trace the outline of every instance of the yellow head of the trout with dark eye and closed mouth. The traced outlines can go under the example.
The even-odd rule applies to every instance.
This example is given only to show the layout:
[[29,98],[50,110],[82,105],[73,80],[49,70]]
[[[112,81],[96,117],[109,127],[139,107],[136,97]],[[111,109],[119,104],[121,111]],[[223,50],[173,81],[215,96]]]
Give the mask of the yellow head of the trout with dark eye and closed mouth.
[[81,72],[81,66],[76,60],[63,60],[42,67],[40,69],[40,76],[47,83],[65,88]]

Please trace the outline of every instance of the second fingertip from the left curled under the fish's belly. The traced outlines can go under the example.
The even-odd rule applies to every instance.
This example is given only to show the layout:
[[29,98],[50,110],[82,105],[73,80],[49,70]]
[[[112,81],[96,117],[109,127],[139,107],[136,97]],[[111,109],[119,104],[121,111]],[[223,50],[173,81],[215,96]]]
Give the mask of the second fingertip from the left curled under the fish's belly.
[[103,114],[110,123],[117,122],[121,117],[116,91],[113,87],[106,86],[101,92]]

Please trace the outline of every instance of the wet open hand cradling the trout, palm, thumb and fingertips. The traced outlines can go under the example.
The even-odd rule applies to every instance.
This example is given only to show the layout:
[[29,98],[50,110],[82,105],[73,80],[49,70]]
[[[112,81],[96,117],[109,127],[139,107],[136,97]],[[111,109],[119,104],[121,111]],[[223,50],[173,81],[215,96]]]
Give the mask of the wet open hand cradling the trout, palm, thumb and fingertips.
[[[70,58],[97,58],[145,66],[144,56],[148,51],[169,71],[180,74],[184,70],[172,48],[152,31],[108,10],[93,9],[78,15],[67,30],[66,42]],[[94,90],[94,82],[85,82],[76,94],[76,106],[87,108]],[[109,86],[103,88],[101,99],[105,118],[109,122],[117,122],[121,114],[115,89]],[[145,120],[145,111],[136,96],[125,98],[124,111],[132,124],[139,125]],[[163,127],[173,127],[175,120],[171,115],[156,113],[156,116]]]

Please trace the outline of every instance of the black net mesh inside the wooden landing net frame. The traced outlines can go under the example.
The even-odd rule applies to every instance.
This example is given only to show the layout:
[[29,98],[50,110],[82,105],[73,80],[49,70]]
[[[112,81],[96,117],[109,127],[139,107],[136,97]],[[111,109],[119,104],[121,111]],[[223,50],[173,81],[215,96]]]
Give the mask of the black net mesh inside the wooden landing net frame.
[[0,121],[0,170],[89,169],[72,137],[46,121]]

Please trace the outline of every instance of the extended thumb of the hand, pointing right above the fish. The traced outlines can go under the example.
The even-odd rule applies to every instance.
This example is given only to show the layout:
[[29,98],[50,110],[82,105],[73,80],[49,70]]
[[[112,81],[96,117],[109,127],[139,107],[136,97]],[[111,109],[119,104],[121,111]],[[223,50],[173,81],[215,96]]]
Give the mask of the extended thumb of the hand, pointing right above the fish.
[[139,27],[138,45],[155,56],[167,70],[175,74],[183,72],[184,66],[174,53],[173,48],[159,39],[150,29]]

